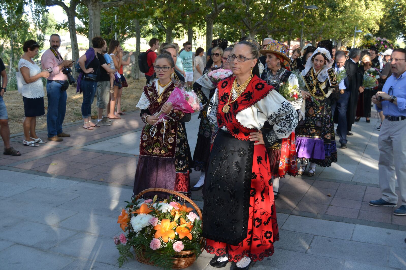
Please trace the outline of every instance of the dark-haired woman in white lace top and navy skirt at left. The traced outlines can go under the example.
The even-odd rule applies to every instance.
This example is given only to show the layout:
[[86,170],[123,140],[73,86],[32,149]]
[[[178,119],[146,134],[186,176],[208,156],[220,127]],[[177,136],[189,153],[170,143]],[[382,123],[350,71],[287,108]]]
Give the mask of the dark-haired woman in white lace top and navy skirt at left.
[[24,55],[18,62],[18,69],[22,75],[21,94],[24,101],[24,140],[23,144],[27,146],[39,146],[39,143],[45,143],[45,140],[37,137],[35,126],[36,117],[45,114],[44,108],[44,85],[41,78],[48,78],[50,73],[42,71],[32,60],[37,55],[39,45],[35,40],[27,40],[24,43]]

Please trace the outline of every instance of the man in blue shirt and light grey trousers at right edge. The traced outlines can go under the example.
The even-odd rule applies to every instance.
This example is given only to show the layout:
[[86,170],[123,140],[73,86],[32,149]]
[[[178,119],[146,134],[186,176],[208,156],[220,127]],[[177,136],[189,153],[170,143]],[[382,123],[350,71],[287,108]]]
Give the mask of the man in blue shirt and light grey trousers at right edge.
[[369,205],[396,207],[397,179],[402,205],[393,214],[403,216],[406,215],[406,49],[394,49],[390,62],[393,74],[387,78],[382,91],[372,97],[385,119],[378,138],[382,198],[371,200]]

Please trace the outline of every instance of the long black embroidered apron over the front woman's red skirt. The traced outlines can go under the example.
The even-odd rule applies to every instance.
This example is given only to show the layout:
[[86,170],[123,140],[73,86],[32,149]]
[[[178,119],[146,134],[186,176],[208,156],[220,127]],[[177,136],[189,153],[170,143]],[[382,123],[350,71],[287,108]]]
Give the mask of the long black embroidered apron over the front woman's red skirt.
[[254,145],[220,130],[205,178],[203,236],[237,245],[247,237]]

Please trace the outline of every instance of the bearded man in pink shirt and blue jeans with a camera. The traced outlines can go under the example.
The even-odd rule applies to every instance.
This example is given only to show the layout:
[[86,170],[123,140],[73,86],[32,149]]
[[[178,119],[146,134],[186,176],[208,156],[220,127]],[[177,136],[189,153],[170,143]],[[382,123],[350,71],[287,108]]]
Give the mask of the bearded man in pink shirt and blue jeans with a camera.
[[66,112],[66,90],[69,87],[69,83],[74,82],[71,81],[73,78],[71,78],[72,75],[70,74],[73,62],[63,60],[58,52],[60,47],[60,36],[58,34],[50,36],[50,45],[51,47],[41,57],[42,69],[50,68],[50,76],[47,79],[48,140],[61,142],[63,141],[61,137],[70,137],[69,134],[62,132],[62,123]]

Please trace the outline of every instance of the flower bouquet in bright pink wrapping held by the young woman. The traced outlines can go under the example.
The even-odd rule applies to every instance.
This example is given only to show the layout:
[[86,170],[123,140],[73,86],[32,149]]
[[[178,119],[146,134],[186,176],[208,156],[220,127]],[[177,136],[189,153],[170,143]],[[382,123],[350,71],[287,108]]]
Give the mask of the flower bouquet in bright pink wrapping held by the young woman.
[[[174,110],[183,113],[194,113],[200,110],[200,100],[192,87],[175,87],[166,103],[171,103]],[[160,111],[157,117],[162,119],[165,115],[166,113]]]

